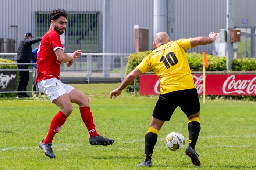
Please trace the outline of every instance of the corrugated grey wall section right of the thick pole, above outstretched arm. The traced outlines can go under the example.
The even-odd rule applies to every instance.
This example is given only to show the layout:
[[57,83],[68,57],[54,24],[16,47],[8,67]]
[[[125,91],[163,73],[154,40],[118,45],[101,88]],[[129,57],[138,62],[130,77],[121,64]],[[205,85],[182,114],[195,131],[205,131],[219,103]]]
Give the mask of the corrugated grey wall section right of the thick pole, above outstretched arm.
[[[226,0],[175,0],[175,39],[208,36],[226,28]],[[188,52],[212,53],[214,44]]]

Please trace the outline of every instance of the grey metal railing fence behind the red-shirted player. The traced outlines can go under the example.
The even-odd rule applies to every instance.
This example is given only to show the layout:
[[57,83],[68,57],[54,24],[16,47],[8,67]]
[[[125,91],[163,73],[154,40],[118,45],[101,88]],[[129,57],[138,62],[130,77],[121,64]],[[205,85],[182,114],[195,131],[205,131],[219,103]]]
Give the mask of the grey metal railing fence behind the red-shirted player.
[[[68,53],[71,55],[72,53]],[[64,83],[121,82],[125,76],[127,53],[82,53],[71,67],[61,64],[60,79]],[[16,60],[17,53],[0,53],[0,58]],[[36,65],[36,63],[0,63],[1,65]],[[36,69],[0,69],[1,71],[32,71]],[[30,77],[30,78],[33,78]],[[17,91],[4,92],[13,93]],[[32,91],[27,91],[32,92]],[[36,90],[38,92],[38,90]],[[1,93],[1,92],[0,92]]]

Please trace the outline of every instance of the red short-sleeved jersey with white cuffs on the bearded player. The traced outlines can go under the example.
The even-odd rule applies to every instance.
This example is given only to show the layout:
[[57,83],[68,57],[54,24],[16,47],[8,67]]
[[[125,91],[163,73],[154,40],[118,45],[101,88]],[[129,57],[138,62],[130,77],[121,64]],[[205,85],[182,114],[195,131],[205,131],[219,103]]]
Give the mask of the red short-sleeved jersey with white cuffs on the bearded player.
[[61,62],[57,60],[57,56],[54,53],[58,48],[63,50],[60,35],[57,31],[49,29],[42,37],[41,44],[38,47],[38,74],[36,76],[36,82],[54,77],[60,79]]

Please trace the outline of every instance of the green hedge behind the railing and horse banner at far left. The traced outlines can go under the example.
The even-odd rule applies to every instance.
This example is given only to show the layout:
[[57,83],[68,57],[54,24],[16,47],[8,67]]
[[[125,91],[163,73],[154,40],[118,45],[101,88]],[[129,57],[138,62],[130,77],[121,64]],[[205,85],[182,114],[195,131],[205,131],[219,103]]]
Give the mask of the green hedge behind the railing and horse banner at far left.
[[[7,59],[0,59],[0,63],[16,63],[12,60],[7,60]],[[18,69],[17,65],[0,65],[0,69]],[[17,71],[16,74],[16,88],[18,86],[18,81],[19,81],[19,72]],[[0,93],[0,97],[16,97],[17,93]]]

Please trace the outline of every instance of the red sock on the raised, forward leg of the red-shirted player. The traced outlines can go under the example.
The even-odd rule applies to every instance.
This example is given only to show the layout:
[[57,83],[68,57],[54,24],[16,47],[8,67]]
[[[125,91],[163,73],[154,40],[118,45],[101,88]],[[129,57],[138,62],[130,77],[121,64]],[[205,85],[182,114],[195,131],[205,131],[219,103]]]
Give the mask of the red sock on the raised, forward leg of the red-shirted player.
[[95,130],[95,124],[92,118],[92,112],[90,112],[90,107],[87,107],[87,106],[80,107],[80,113],[81,113],[83,122],[85,123],[85,126],[89,131],[90,137],[99,135]]

